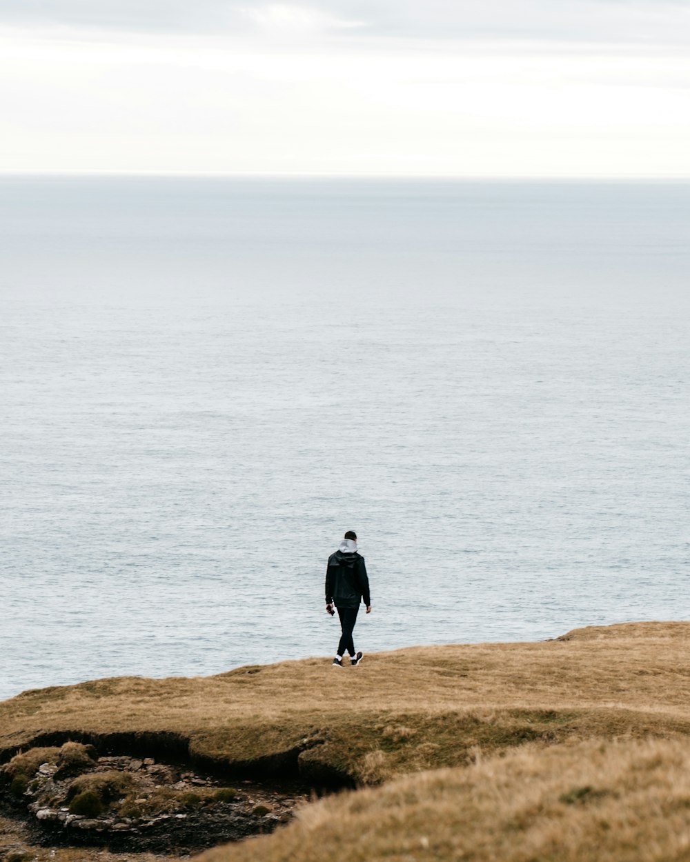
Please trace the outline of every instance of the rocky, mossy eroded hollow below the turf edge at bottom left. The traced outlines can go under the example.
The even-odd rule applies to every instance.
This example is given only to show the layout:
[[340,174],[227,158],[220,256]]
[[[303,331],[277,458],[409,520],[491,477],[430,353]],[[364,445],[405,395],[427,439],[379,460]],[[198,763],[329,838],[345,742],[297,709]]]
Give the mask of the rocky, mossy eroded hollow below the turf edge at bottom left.
[[[8,815],[5,859],[12,853],[21,859],[28,842],[179,857],[272,832],[306,798],[297,785],[229,786],[153,758],[98,756],[93,746],[76,742],[29,748],[0,769],[0,802]],[[7,840],[11,823],[18,836],[13,846]],[[34,858],[30,849],[26,853]]]

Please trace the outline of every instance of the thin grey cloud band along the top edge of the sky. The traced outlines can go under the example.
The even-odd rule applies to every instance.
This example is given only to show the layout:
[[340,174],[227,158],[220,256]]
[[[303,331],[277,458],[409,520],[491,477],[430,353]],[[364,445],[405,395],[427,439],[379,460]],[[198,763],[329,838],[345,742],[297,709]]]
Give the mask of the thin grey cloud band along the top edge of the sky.
[[145,33],[319,31],[352,38],[679,44],[688,0],[0,0],[0,23]]

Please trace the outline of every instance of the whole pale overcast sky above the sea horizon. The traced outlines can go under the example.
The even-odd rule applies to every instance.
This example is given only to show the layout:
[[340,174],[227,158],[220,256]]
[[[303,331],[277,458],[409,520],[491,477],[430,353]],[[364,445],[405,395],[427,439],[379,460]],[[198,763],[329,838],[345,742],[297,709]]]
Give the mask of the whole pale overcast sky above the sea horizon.
[[0,170],[690,176],[690,0],[0,0]]

